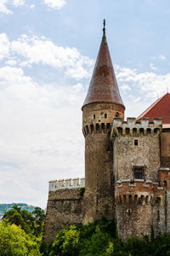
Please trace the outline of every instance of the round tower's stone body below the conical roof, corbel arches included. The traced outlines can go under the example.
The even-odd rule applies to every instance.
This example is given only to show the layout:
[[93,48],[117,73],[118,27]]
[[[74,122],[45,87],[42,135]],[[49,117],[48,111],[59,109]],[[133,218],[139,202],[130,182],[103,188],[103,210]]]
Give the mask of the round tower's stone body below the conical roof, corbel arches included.
[[110,130],[113,118],[124,117],[120,104],[97,102],[82,108],[82,132],[85,137],[85,180],[83,223],[95,218],[113,218],[113,154]]

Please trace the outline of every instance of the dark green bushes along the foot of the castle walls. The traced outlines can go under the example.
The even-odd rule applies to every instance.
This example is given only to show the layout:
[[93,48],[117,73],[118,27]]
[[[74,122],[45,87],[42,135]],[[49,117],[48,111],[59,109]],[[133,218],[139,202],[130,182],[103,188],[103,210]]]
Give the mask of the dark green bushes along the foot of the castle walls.
[[61,230],[54,243],[46,245],[42,252],[47,256],[170,256],[170,235],[131,237],[123,242],[117,236],[114,221],[103,218]]

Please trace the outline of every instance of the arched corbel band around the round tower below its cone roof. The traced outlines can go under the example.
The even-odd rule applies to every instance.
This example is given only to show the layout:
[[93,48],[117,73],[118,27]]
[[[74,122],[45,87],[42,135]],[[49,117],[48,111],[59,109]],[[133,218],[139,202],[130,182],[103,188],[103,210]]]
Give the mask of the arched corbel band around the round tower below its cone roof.
[[82,128],[82,133],[84,137],[88,136],[89,134],[94,133],[108,133],[111,130],[110,123],[96,123],[91,125],[85,125]]

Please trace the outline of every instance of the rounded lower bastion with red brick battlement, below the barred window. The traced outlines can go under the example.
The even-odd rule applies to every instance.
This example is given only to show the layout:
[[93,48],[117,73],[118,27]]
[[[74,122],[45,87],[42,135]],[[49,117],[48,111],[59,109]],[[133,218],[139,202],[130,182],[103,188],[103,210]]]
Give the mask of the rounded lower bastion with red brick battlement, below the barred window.
[[158,184],[144,182],[116,183],[116,219],[119,236],[125,241],[130,236],[150,236],[165,232],[165,190]]

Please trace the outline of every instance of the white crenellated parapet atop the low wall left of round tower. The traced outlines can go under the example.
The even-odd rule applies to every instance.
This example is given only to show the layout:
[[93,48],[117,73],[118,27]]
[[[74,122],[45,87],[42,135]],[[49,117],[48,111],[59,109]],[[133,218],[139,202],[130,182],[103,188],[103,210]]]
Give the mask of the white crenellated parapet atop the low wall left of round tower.
[[84,177],[65,178],[49,181],[49,191],[56,191],[58,189],[76,189],[85,187]]

